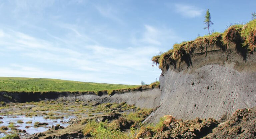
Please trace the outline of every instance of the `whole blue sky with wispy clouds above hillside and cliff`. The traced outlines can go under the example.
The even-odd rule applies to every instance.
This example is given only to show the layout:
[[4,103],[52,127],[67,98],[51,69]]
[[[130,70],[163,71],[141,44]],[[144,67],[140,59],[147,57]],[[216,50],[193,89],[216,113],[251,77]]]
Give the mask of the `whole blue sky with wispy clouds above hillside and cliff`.
[[0,76],[150,84],[152,56],[246,23],[255,1],[0,0]]

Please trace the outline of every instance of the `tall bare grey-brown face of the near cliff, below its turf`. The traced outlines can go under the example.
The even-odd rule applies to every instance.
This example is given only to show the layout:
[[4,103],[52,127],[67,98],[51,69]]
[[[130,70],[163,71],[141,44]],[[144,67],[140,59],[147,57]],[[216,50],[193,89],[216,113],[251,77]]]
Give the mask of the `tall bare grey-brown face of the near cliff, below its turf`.
[[256,106],[256,54],[231,44],[195,50],[162,69],[161,101],[145,122],[164,115],[178,119],[229,119],[236,109]]

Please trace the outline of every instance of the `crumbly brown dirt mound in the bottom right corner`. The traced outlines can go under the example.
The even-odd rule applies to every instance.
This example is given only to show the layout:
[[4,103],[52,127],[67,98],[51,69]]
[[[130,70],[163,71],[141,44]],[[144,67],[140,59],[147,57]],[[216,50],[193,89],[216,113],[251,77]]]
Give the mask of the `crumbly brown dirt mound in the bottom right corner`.
[[226,122],[221,123],[205,139],[255,139],[256,107],[237,110]]

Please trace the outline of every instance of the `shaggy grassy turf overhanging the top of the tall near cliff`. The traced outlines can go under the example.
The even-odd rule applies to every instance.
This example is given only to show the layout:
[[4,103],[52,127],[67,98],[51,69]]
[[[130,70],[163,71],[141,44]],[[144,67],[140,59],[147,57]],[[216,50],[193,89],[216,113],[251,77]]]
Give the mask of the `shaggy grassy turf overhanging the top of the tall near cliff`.
[[256,19],[248,22],[246,25],[233,25],[223,33],[214,32],[211,35],[198,37],[195,40],[174,44],[169,51],[152,57],[153,63],[159,64],[163,69],[167,65],[175,65],[177,61],[182,60],[184,56],[190,55],[197,49],[205,47],[218,46],[225,50],[229,43],[241,43],[249,51],[256,50]]

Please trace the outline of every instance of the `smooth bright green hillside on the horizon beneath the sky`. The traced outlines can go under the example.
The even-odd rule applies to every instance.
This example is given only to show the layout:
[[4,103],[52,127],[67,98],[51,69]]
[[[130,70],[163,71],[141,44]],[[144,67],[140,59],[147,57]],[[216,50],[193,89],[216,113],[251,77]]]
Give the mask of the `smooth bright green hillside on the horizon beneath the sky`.
[[0,77],[0,91],[99,91],[134,88],[136,85],[105,84],[42,78]]

